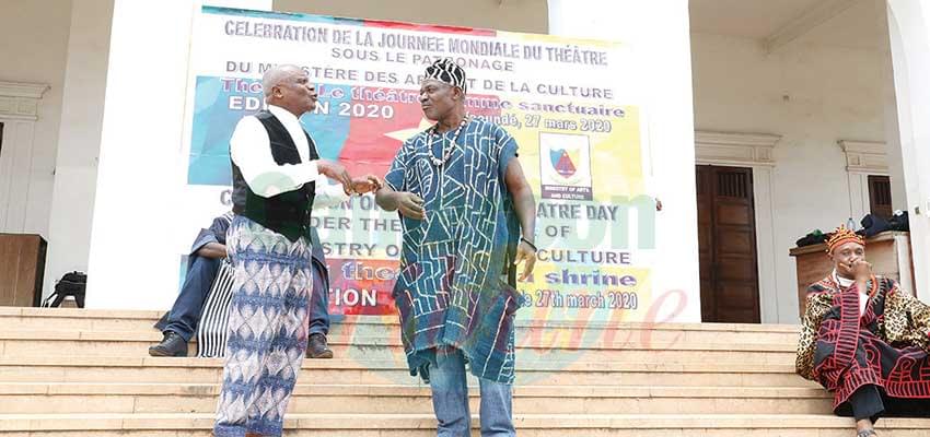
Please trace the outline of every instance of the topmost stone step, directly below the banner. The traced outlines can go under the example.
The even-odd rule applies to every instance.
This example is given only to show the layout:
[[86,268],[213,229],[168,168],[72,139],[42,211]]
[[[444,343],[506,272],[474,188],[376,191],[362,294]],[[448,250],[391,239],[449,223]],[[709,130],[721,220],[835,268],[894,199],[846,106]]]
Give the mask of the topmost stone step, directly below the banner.
[[[0,307],[0,332],[7,330],[153,331],[161,311]],[[518,321],[519,342],[536,344],[613,342],[794,343],[798,327],[739,323],[528,322]],[[393,328],[391,328],[393,327]],[[334,316],[330,334],[397,338],[396,316]]]

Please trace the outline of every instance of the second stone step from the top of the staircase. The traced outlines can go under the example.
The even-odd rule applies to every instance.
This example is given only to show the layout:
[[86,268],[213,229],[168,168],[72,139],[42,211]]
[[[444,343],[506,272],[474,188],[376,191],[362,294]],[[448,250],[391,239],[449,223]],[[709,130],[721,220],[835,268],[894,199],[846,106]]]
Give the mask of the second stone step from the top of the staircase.
[[[154,331],[37,331],[8,330],[0,332],[0,356],[75,355],[75,356],[139,356],[161,340]],[[404,359],[398,339],[344,338],[329,339],[336,356],[353,359]],[[188,355],[195,353],[189,347]],[[639,341],[595,342],[592,344],[535,345],[518,344],[518,361],[617,361],[642,363],[695,362],[791,364],[795,347],[771,343],[673,343]]]

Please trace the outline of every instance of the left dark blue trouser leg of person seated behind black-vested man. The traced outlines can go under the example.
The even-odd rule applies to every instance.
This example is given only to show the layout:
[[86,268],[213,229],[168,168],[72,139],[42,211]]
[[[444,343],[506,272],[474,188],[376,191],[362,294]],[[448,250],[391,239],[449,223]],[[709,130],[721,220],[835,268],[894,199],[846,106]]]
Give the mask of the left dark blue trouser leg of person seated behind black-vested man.
[[177,295],[174,306],[171,307],[167,326],[162,330],[174,331],[184,341],[190,341],[194,332],[197,331],[200,312],[204,310],[204,302],[207,299],[207,294],[210,293],[213,280],[217,279],[217,272],[220,271],[219,258],[206,258],[197,255],[190,257],[194,260],[190,261],[190,268],[187,269],[187,276],[184,279],[181,294]]

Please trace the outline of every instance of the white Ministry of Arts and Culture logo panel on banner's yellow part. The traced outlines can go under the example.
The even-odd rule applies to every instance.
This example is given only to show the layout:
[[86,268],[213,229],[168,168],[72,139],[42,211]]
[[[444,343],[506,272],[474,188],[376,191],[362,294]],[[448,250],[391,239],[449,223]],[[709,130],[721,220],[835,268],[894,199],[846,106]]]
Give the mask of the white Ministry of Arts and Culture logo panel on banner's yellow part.
[[543,199],[592,200],[588,135],[539,132],[539,156]]

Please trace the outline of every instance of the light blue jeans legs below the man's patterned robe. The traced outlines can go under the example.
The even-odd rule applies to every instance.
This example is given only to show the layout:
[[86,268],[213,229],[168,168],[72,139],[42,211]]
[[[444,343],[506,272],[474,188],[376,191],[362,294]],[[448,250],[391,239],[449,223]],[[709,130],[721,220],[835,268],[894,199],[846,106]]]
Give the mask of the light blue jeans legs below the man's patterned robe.
[[[472,413],[468,408],[468,382],[465,356],[457,349],[440,349],[437,366],[430,366],[432,405],[439,421],[437,437],[467,437],[472,435]],[[513,387],[507,383],[478,379],[481,404],[483,437],[516,436],[513,429]]]

